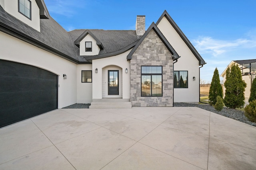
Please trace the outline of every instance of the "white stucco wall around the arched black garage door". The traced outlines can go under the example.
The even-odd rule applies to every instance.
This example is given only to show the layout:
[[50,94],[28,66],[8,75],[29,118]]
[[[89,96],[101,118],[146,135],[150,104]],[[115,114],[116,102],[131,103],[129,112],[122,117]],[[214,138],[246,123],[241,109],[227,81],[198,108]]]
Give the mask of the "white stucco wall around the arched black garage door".
[[[76,103],[76,64],[3,32],[0,32],[0,59],[37,66],[57,74],[58,108]],[[63,74],[67,79],[63,79]]]

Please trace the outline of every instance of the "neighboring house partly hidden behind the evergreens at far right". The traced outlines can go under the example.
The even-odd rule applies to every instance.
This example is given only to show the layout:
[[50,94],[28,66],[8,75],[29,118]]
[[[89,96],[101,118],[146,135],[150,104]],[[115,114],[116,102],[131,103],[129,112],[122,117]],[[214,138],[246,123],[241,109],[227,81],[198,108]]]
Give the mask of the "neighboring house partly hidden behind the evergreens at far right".
[[[233,64],[237,64],[242,72],[242,79],[246,82],[246,88],[244,92],[244,97],[245,100],[248,101],[250,98],[250,89],[252,85],[252,81],[256,76],[256,59],[252,60],[236,60],[236,61],[231,61],[230,64],[228,64],[227,68],[222,72],[220,76],[223,77],[223,82],[226,81],[226,70],[228,68],[231,68]],[[226,88],[223,87],[223,92],[225,95],[225,90]]]

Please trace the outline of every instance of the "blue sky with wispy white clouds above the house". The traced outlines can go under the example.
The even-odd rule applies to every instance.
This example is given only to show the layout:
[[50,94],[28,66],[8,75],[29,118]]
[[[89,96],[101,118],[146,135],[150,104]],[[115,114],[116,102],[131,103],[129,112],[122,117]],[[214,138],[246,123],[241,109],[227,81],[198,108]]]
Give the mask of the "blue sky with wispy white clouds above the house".
[[[137,15],[146,29],[164,10],[207,64],[200,77],[211,82],[233,60],[256,59],[256,0],[44,0],[64,29],[135,29]],[[222,78],[220,78],[222,80]]]

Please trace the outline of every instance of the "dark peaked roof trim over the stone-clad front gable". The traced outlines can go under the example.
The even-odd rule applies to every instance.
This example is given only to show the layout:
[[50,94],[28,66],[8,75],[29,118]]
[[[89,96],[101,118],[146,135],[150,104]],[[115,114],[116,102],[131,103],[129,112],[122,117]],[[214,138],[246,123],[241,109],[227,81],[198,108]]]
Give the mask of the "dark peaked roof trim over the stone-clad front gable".
[[132,55],[133,53],[136,51],[136,49],[139,47],[139,45],[142,43],[142,41],[146,38],[146,36],[148,35],[148,33],[151,30],[154,30],[155,33],[158,35],[158,37],[162,40],[162,42],[164,43],[164,45],[167,47],[167,49],[170,51],[170,53],[173,55],[173,59],[176,60],[178,58],[180,58],[180,56],[178,55],[178,53],[174,50],[174,48],[172,47],[172,45],[170,45],[170,43],[167,41],[167,39],[164,37],[164,35],[161,33],[161,31],[158,29],[158,27],[156,26],[156,24],[154,22],[152,22],[152,24],[148,27],[147,31],[144,33],[144,35],[141,37],[141,39],[138,41],[138,43],[136,43],[136,45],[134,46],[134,48],[132,49],[132,51],[130,51],[130,53],[127,56],[127,60],[132,59]]

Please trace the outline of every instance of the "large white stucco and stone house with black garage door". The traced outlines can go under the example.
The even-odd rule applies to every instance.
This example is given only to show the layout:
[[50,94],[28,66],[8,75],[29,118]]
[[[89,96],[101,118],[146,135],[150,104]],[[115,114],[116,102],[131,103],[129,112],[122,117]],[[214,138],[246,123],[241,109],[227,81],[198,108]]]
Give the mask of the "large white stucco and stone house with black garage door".
[[137,16],[136,30],[67,32],[43,0],[0,0],[0,51],[0,126],[75,103],[197,103],[206,64],[166,11],[147,30]]

